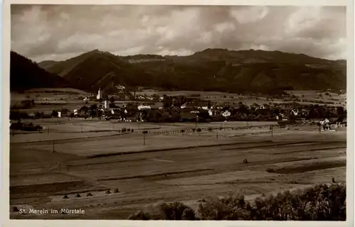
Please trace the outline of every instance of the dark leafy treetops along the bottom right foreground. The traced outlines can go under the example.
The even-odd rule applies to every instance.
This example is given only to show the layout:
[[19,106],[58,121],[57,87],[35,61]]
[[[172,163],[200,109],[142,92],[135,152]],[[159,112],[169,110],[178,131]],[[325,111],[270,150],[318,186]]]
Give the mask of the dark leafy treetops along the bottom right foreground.
[[241,194],[202,199],[197,211],[175,201],[151,204],[131,220],[345,221],[346,185],[320,184],[247,201]]

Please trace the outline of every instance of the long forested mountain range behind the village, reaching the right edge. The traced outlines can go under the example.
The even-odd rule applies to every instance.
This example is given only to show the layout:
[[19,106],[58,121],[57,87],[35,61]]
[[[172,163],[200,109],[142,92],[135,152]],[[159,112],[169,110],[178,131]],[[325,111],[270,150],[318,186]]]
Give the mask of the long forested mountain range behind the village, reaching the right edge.
[[87,91],[111,92],[116,84],[237,93],[346,88],[346,61],[280,51],[207,49],[189,56],[120,57],[93,50],[40,66]]

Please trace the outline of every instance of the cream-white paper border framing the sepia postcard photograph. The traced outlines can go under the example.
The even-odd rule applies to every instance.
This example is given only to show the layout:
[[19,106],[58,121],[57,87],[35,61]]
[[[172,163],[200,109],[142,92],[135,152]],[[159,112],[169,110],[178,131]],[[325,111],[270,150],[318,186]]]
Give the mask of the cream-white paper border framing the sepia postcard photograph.
[[[99,221],[99,220],[9,220],[9,52],[10,52],[10,4],[164,4],[164,5],[279,5],[279,6],[347,6],[347,165],[346,165],[346,221]],[[354,226],[354,1],[351,0],[6,0],[3,4],[3,83],[2,83],[2,181],[1,226]],[[7,142],[7,143],[5,143]]]

